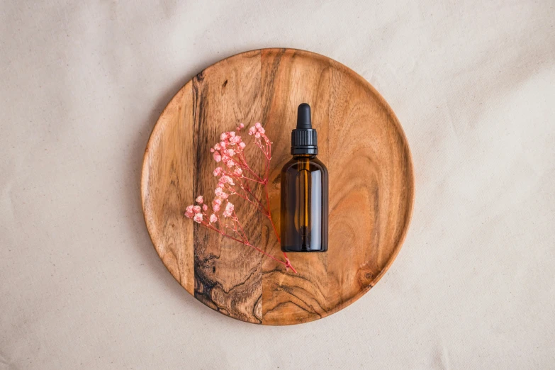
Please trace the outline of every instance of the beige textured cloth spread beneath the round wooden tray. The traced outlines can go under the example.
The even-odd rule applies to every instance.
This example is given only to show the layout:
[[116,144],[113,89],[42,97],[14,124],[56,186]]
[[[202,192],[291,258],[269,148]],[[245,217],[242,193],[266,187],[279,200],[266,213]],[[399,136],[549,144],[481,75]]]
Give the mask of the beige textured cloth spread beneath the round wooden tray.
[[[555,368],[555,4],[0,2],[0,369]],[[198,303],[142,219],[173,94],[296,47],[383,94],[413,152],[396,262],[292,327]]]

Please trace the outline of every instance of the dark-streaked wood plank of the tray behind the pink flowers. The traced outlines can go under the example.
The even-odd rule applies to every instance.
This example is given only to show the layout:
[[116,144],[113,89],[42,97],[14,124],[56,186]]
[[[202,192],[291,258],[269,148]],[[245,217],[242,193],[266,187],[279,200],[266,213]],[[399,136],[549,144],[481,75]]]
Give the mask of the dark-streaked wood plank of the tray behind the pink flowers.
[[[259,120],[260,82],[255,77],[260,71],[259,52],[242,55],[242,68],[211,67],[198,74],[194,86],[194,153],[195,195],[203,194],[211,202],[215,189],[212,171],[216,166],[210,147],[219,141],[219,134],[232,130],[243,121]],[[253,156],[255,168],[262,166],[262,157]],[[259,190],[258,190],[259,191]],[[255,245],[260,243],[261,216],[249,206],[237,208],[237,215],[245,223],[245,230]],[[260,323],[262,318],[262,255],[244,245],[200,227],[194,229],[195,297],[232,318]],[[240,269],[234,268],[240,266]]]

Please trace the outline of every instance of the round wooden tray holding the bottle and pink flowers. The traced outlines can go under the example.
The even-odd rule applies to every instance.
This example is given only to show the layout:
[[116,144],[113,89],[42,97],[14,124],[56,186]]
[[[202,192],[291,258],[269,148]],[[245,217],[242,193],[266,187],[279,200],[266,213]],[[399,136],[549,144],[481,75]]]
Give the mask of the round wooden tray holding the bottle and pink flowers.
[[[260,122],[274,142],[270,203],[279,225],[279,171],[303,102],[330,173],[329,251],[288,254],[294,274],[184,210],[198,194],[212,198],[209,149],[218,135]],[[152,243],[186,291],[232,318],[290,325],[341,310],[383,276],[410,222],[413,164],[395,114],[358,74],[311,52],[254,50],[208,67],[169,102],[145,151],[141,196]],[[267,220],[247,216],[251,242],[281,257]]]

